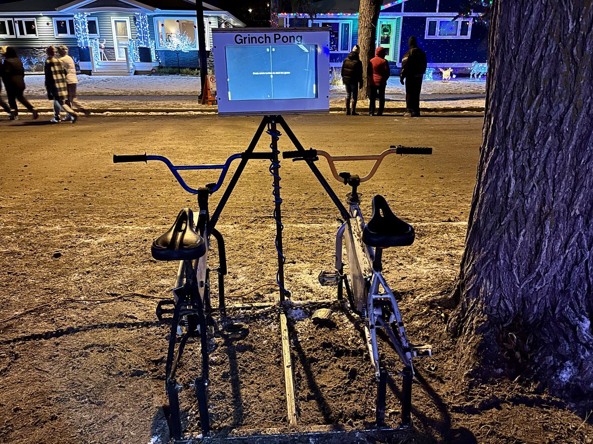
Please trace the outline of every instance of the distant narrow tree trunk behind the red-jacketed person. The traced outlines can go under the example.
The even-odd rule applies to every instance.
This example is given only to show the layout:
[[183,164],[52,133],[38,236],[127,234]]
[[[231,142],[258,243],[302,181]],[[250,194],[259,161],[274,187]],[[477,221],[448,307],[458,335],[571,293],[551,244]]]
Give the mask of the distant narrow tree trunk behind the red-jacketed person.
[[368,99],[368,73],[369,60],[375,56],[375,43],[377,40],[377,22],[381,11],[381,0],[361,0],[358,9],[358,46],[362,62],[362,79],[364,88],[358,93],[359,99]]

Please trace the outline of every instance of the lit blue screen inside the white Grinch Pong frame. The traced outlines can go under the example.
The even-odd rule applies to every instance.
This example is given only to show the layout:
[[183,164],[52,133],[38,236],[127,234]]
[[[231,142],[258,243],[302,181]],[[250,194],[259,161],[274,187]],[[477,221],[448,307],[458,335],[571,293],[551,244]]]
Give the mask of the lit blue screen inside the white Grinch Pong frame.
[[229,101],[314,99],[317,45],[227,46]]

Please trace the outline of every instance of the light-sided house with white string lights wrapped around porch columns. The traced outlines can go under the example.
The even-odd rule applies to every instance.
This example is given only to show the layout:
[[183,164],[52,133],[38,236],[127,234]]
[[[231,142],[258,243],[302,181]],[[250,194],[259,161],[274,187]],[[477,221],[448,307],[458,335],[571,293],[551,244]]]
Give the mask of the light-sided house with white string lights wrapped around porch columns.
[[[212,28],[244,27],[205,2],[206,50]],[[14,46],[30,63],[43,62],[47,46],[66,45],[83,73],[130,75],[159,65],[199,66],[195,0],[20,0],[0,4],[0,46]],[[189,52],[165,46],[179,30]]]

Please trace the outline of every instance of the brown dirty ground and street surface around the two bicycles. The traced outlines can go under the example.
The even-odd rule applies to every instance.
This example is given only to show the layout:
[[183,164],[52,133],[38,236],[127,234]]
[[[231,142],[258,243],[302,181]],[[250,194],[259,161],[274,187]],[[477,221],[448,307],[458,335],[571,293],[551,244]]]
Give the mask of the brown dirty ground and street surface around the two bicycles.
[[[433,356],[416,361],[414,429],[357,432],[371,429],[375,416],[375,380],[361,325],[336,303],[336,288],[317,281],[321,270],[332,268],[340,215],[307,166],[285,160],[285,284],[292,292],[288,318],[298,423],[287,422],[278,310],[233,309],[229,317],[246,326],[239,337],[225,334],[214,316],[208,397],[215,437],[206,442],[227,435],[264,442],[249,436],[263,429],[274,434],[267,442],[593,442],[586,413],[574,413],[574,406],[550,397],[536,382],[518,375],[471,387],[455,376],[463,371],[444,330],[450,312],[444,299],[463,252],[482,120],[286,117],[303,146],[334,155],[375,154],[391,144],[434,148],[432,156],[387,157],[361,185],[366,218],[378,193],[415,227],[412,246],[385,250],[384,275],[397,292],[409,336],[432,343]],[[114,165],[111,156],[148,152],[178,165],[222,163],[246,149],[259,121],[138,115],[58,126],[0,123],[0,442],[168,442],[168,330],[157,321],[155,306],[171,298],[177,265],[152,259],[150,244],[181,207],[197,205],[164,165]],[[268,145],[269,137],[263,137],[257,149]],[[279,147],[293,149],[285,135]],[[323,159],[318,166],[345,197],[346,187],[331,179]],[[278,301],[268,167],[266,160],[248,163],[217,225],[227,246],[228,303]],[[369,168],[358,163],[341,170]],[[208,172],[187,176],[195,186],[215,179]],[[212,210],[222,192],[212,195]],[[334,311],[329,326],[311,321],[321,306]],[[199,362],[191,344],[184,357],[180,379],[188,384]],[[386,422],[397,427],[401,367],[386,346],[382,359],[391,372]],[[189,387],[181,392],[181,404],[188,436],[199,441]],[[331,424],[343,432],[314,433]],[[311,434],[288,435],[295,432]]]

